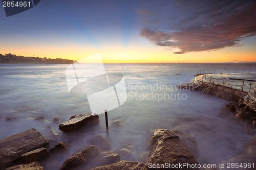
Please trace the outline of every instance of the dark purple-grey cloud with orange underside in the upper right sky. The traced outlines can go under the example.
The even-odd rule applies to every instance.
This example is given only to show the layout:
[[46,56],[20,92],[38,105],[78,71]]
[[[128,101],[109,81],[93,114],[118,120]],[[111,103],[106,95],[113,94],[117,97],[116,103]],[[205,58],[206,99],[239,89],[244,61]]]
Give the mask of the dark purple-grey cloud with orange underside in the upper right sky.
[[157,15],[148,18],[161,22],[140,35],[170,50],[179,48],[175,54],[239,46],[242,38],[256,35],[254,1],[172,1],[164,6],[151,9]]

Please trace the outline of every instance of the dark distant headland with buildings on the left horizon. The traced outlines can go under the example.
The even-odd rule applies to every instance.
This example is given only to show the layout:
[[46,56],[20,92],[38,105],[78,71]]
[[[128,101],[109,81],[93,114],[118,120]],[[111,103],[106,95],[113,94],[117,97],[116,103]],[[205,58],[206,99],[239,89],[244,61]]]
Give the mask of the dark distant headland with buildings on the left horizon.
[[62,58],[39,58],[39,57],[24,57],[16,56],[15,54],[0,54],[1,64],[72,64],[74,60],[62,59]]

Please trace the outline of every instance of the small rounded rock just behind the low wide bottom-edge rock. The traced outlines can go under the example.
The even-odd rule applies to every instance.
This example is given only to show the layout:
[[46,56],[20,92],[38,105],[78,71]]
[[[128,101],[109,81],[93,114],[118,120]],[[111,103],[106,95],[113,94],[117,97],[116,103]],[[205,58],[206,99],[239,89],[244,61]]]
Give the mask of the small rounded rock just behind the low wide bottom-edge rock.
[[95,160],[99,162],[98,166],[103,166],[120,161],[120,156],[114,152],[102,152]]

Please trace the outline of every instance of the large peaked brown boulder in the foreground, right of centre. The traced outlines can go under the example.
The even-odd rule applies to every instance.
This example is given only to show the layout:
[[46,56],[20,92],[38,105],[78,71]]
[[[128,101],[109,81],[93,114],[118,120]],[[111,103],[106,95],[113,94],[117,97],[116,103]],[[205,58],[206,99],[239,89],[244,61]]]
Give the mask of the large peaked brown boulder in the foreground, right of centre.
[[[151,151],[151,157],[146,166],[151,164],[198,164],[197,160],[189,153],[187,148],[179,139],[179,136],[166,129],[156,129],[147,144]],[[196,168],[195,168],[196,169]]]

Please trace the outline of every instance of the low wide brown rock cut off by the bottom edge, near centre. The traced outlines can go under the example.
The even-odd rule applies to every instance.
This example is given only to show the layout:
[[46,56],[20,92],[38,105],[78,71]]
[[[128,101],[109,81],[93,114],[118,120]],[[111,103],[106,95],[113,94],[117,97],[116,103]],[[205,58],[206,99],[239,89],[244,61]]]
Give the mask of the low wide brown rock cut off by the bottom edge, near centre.
[[146,166],[141,162],[131,162],[131,161],[119,161],[116,163],[113,163],[111,165],[105,165],[105,166],[99,166],[95,167],[91,170],[146,170]]

